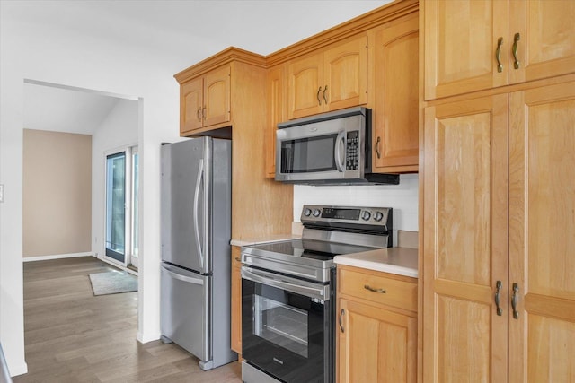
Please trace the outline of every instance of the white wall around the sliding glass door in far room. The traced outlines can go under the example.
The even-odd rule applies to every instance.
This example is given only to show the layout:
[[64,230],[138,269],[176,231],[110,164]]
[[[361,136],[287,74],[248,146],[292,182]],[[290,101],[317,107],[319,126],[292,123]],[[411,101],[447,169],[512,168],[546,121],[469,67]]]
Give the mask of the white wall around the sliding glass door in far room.
[[92,252],[104,255],[106,155],[137,145],[138,101],[118,100],[92,135]]

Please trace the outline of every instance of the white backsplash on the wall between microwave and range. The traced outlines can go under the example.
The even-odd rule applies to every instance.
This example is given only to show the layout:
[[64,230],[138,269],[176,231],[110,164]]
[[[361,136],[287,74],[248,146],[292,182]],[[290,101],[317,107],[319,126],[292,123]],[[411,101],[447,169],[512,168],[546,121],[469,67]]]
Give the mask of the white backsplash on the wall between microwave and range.
[[392,207],[394,246],[397,231],[418,231],[418,174],[402,174],[399,185],[309,187],[294,186],[294,221],[303,205]]

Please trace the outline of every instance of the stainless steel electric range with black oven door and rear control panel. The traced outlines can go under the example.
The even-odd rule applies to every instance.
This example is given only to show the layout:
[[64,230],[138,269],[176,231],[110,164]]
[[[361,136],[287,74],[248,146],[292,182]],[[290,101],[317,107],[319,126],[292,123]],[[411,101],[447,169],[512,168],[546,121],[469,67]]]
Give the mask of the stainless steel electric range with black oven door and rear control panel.
[[392,246],[392,209],[304,205],[301,239],[242,248],[242,379],[335,380],[333,257]]

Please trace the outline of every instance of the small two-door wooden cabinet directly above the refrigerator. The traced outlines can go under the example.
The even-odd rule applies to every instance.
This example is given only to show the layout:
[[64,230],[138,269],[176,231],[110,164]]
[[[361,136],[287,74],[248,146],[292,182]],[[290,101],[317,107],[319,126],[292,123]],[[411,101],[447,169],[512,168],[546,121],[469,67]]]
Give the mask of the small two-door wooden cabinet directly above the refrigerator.
[[180,135],[231,120],[230,83],[230,65],[224,65],[181,84]]

